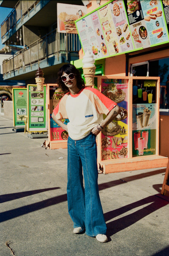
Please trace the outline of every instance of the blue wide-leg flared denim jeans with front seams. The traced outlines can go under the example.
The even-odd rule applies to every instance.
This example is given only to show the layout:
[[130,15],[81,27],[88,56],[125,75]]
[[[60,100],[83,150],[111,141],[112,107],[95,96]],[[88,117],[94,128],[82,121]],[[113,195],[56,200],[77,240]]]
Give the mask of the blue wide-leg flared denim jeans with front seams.
[[81,140],[68,138],[67,197],[74,228],[86,228],[91,237],[106,234],[98,188],[96,138],[92,133]]

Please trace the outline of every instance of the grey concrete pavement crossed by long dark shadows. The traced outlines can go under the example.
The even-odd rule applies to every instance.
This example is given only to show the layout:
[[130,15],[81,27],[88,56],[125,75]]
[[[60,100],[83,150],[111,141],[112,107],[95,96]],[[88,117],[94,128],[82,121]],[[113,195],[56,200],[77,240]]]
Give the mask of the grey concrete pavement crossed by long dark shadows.
[[[165,168],[99,174],[107,243],[73,234],[67,209],[67,149],[13,132],[0,117],[0,256],[168,256]],[[10,248],[5,243],[10,241]]]

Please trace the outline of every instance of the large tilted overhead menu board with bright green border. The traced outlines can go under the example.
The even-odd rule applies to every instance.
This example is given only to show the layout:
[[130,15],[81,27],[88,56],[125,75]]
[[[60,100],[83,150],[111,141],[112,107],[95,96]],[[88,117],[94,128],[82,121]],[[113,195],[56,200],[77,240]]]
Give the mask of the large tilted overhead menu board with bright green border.
[[168,43],[168,7],[160,0],[114,0],[100,6],[75,21],[84,53],[101,59]]

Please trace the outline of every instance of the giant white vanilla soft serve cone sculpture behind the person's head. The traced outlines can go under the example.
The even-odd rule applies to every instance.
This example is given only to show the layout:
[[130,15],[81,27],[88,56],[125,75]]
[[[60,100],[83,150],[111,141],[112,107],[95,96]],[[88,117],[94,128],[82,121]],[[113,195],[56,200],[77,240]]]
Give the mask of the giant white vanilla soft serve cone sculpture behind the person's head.
[[93,55],[87,51],[84,54],[82,63],[83,63],[83,74],[86,80],[86,86],[94,86],[94,74],[96,66],[94,65]]

